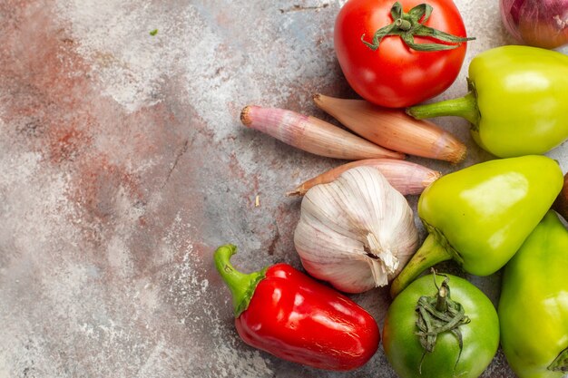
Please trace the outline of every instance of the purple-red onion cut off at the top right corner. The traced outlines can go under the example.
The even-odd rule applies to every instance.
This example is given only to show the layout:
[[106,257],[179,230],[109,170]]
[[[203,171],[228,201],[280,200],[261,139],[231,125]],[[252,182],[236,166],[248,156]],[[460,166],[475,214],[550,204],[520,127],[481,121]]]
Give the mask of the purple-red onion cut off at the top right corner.
[[553,49],[568,44],[568,0],[500,0],[501,18],[515,39]]

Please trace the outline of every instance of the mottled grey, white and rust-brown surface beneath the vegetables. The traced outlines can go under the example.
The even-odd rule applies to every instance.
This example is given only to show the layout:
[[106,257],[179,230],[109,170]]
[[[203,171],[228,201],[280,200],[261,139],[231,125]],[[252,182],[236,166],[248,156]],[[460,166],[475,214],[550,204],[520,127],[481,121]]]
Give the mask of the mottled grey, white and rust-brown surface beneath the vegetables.
[[[344,2],[0,2],[0,377],[395,376],[382,350],[328,373],[243,344],[211,260],[232,242],[243,271],[300,267],[300,200],[284,193],[340,162],[239,114],[325,117],[312,93],[355,96],[333,50]],[[497,0],[456,4],[477,40],[440,98],[465,93],[472,56],[512,42]],[[411,160],[448,172],[489,158],[465,121],[436,122],[468,159]],[[566,145],[549,155],[568,169]],[[496,300],[498,275],[470,278]],[[353,298],[382,324],[387,289]],[[484,374],[513,376],[502,354]]]

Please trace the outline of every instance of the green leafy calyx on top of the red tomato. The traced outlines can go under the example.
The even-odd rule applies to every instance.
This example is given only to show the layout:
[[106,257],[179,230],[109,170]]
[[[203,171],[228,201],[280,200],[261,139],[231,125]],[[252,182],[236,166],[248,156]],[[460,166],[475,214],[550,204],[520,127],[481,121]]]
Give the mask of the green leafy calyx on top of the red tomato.
[[[459,47],[463,42],[475,39],[475,37],[458,37],[454,34],[426,26],[425,23],[432,15],[433,10],[432,5],[420,4],[410,9],[408,13],[405,13],[402,10],[402,5],[396,2],[390,8],[390,15],[394,22],[378,29],[373,35],[372,43],[365,41],[365,34],[361,35],[361,42],[369,49],[376,51],[384,37],[387,35],[398,35],[409,48],[428,52],[452,50]],[[416,44],[415,36],[431,37],[449,44]]]

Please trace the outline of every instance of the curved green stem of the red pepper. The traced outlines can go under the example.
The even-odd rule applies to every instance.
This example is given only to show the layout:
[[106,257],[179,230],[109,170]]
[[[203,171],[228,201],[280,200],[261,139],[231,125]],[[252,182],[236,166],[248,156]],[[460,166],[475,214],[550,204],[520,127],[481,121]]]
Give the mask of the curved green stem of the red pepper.
[[239,317],[249,307],[250,298],[254,295],[254,290],[259,285],[260,280],[266,276],[267,268],[248,275],[240,273],[230,264],[230,257],[235,253],[237,253],[237,247],[226,244],[217,248],[213,259],[221,278],[230,288],[235,317]]

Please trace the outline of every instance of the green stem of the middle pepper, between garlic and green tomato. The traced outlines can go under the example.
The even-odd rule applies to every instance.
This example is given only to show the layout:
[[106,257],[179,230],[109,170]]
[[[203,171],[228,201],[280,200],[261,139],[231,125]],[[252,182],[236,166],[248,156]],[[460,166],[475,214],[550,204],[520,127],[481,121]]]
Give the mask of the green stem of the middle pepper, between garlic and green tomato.
[[406,267],[395,278],[390,286],[390,296],[393,298],[398,295],[406,286],[408,286],[417,276],[428,267],[433,267],[437,263],[450,260],[452,257],[446,251],[436,237],[432,234],[426,237],[424,244],[420,247],[414,256],[408,261]]

